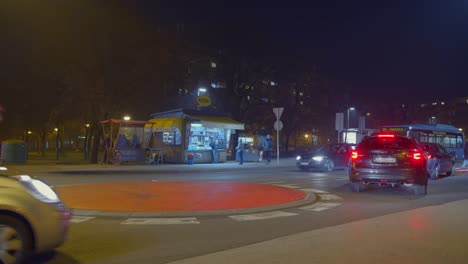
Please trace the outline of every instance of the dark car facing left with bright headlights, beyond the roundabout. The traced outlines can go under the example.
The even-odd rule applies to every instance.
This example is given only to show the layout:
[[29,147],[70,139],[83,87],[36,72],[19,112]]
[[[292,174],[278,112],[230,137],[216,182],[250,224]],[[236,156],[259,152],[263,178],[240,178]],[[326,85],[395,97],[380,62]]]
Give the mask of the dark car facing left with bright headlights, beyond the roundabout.
[[316,151],[305,152],[296,157],[296,165],[302,170],[316,169],[332,171],[335,168],[347,168],[353,144],[327,144]]

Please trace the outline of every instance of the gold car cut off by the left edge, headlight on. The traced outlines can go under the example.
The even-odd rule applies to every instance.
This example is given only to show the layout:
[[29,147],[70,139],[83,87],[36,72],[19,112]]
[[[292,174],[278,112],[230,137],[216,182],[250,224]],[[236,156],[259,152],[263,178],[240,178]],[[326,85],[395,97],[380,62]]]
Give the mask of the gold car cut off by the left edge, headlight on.
[[26,263],[60,246],[70,211],[44,182],[0,167],[0,263]]

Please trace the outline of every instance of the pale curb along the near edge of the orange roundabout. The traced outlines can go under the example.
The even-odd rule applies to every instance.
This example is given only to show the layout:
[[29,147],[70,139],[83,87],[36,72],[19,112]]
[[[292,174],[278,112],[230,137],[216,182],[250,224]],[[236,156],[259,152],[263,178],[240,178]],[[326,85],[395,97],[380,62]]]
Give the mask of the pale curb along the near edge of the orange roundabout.
[[291,203],[271,205],[257,208],[247,209],[232,209],[232,210],[217,210],[217,211],[191,211],[191,212],[113,212],[113,211],[95,211],[95,210],[78,210],[70,208],[74,216],[94,216],[94,217],[109,217],[109,218],[150,218],[150,217],[195,217],[195,216],[225,216],[238,214],[253,214],[263,213],[281,209],[289,209],[303,205],[313,204],[318,201],[318,197],[314,193],[306,193],[304,199]]

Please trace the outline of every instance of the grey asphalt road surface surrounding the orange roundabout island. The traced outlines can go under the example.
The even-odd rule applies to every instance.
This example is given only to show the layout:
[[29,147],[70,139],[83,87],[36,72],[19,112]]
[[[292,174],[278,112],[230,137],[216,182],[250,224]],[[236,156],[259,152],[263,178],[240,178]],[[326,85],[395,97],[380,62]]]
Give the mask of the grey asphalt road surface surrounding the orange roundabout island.
[[[368,219],[394,212],[468,198],[468,175],[430,181],[427,196],[404,189],[371,189],[351,193],[346,173],[302,172],[295,167],[240,168],[211,172],[60,173],[36,176],[52,185],[109,181],[235,181],[287,185],[315,192],[331,206],[289,208],[268,219],[245,220],[229,215],[197,216],[189,224],[132,223],[117,217],[74,219],[65,245],[35,256],[38,263],[169,263],[273,238]],[[118,202],[118,201],[116,201]],[[378,235],[378,234],[376,234]]]

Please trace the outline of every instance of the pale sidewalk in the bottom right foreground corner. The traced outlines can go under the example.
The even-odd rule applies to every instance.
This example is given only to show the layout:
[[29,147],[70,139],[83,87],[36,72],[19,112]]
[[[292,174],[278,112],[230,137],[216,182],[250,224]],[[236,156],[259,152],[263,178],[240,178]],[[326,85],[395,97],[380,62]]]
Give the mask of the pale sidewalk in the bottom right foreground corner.
[[465,264],[468,200],[415,209],[171,264]]

